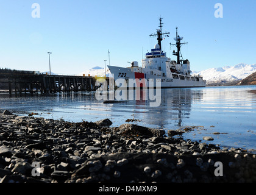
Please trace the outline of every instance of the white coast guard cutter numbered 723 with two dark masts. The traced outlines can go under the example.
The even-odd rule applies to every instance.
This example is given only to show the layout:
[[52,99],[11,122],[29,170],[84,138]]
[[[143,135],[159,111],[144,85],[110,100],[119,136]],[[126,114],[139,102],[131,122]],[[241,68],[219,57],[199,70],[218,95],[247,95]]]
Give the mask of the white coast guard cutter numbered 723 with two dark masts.
[[[176,41],[171,46],[177,47],[177,52],[173,51],[173,55],[177,56],[177,61],[171,60],[166,57],[166,52],[162,51],[161,41],[162,35],[167,35],[169,32],[162,33],[162,19],[160,20],[160,29],[157,30],[157,34],[151,34],[150,36],[157,36],[158,43],[155,44],[154,49],[151,52],[146,53],[146,59],[142,60],[142,66],[138,66],[138,62],[132,62],[132,66],[123,68],[119,66],[108,66],[112,73],[114,80],[125,79],[127,87],[129,86],[129,80],[140,80],[140,82],[133,82],[137,87],[148,87],[148,81],[151,79],[161,82],[161,88],[181,88],[181,87],[205,87],[205,80],[202,76],[191,76],[190,62],[188,60],[182,60],[180,53],[180,47],[182,44],[180,41],[183,37],[179,37],[176,28]],[[141,82],[143,80],[143,82]]]

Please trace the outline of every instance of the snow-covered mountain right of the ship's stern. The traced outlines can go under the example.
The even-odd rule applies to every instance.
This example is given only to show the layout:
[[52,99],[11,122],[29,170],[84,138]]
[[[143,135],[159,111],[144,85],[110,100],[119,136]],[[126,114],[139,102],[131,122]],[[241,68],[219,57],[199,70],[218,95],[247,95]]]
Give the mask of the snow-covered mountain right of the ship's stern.
[[235,66],[223,66],[221,68],[209,68],[191,74],[199,74],[207,81],[207,84],[229,83],[242,80],[256,72],[256,64],[247,65],[239,63]]

